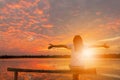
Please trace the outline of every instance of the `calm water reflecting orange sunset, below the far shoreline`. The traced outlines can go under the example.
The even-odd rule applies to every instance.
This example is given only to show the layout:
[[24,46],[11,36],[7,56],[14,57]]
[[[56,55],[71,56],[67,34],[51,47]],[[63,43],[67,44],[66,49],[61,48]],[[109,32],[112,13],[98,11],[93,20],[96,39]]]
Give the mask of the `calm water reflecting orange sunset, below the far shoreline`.
[[[80,76],[83,80],[120,80],[120,59],[96,60],[97,75]],[[69,69],[69,59],[0,59],[0,80],[13,80],[7,67],[29,69]],[[72,80],[70,74],[20,73],[19,80]]]

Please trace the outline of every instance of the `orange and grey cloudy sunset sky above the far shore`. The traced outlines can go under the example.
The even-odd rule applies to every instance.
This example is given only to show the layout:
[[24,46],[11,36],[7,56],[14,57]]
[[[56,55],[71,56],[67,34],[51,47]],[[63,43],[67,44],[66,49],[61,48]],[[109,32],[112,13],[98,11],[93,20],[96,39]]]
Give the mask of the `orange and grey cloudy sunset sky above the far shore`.
[[120,52],[120,0],[0,0],[0,55],[39,53],[49,43],[107,43]]

